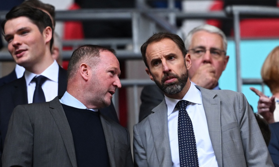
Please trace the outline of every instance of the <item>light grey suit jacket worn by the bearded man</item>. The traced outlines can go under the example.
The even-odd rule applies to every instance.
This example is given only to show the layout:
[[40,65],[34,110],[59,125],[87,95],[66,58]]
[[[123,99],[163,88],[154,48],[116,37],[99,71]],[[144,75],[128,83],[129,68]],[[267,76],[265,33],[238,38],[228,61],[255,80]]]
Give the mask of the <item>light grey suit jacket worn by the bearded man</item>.
[[[202,94],[209,136],[219,167],[273,166],[254,113],[242,93],[208,90]],[[134,126],[134,163],[170,167],[172,159],[165,100]]]

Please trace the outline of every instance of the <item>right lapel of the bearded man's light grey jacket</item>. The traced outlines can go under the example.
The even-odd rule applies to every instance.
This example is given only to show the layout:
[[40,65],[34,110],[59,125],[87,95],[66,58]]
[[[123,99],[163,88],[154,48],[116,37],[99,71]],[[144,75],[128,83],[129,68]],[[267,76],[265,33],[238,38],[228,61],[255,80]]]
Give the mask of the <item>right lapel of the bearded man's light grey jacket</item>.
[[217,93],[196,86],[202,94],[203,108],[206,116],[209,136],[216,156],[218,166],[222,167],[222,136],[220,122],[220,98],[215,97]]

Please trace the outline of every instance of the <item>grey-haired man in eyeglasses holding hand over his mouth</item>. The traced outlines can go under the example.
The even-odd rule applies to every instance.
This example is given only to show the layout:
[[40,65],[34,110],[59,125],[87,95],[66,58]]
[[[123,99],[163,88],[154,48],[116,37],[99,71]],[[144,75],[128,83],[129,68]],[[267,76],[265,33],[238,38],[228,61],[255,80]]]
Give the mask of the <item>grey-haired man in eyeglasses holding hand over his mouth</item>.
[[[192,83],[219,90],[218,80],[229,61],[226,56],[227,38],[222,30],[212,25],[201,25],[189,32],[185,47],[191,56],[189,77]],[[147,117],[164,99],[157,85],[145,86],[141,92],[139,122]]]

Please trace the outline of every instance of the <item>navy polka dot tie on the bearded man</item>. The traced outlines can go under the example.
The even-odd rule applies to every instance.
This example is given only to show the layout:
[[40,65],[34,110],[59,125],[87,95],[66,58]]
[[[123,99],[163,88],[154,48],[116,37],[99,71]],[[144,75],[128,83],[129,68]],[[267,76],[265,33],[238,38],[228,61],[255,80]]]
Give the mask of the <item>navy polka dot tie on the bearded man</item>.
[[198,154],[192,121],[186,111],[189,101],[180,100],[175,108],[178,114],[178,145],[180,167],[198,167]]

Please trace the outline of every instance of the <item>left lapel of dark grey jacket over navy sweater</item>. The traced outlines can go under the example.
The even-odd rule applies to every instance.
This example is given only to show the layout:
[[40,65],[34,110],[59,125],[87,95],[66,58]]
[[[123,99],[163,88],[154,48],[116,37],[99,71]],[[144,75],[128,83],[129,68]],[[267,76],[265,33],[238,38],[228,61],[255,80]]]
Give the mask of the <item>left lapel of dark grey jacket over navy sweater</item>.
[[70,129],[70,125],[68,123],[67,117],[64,113],[63,107],[58,97],[55,97],[54,100],[50,101],[49,107],[50,107],[50,113],[52,114],[58,126],[58,129],[61,133],[62,139],[64,141],[72,165],[73,167],[77,167],[76,152],[75,152],[75,146],[73,142],[72,131]]

